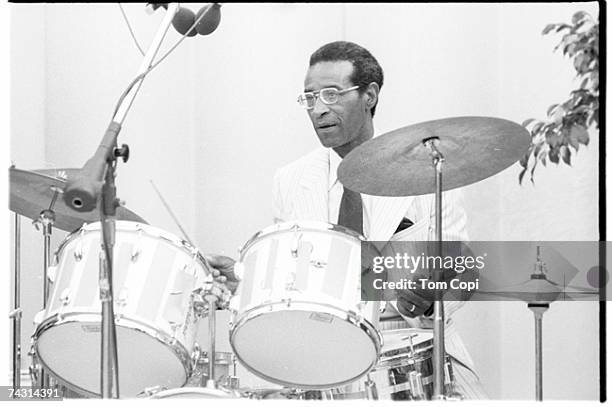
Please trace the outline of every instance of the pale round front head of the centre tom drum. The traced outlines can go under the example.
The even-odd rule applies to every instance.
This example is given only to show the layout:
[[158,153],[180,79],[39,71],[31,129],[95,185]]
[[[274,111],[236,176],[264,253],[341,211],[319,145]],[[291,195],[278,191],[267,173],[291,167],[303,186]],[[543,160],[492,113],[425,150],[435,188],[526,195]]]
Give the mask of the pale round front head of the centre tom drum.
[[238,359],[265,380],[302,389],[337,387],[367,373],[378,360],[369,327],[308,305],[311,310],[292,303],[238,322],[231,334]]

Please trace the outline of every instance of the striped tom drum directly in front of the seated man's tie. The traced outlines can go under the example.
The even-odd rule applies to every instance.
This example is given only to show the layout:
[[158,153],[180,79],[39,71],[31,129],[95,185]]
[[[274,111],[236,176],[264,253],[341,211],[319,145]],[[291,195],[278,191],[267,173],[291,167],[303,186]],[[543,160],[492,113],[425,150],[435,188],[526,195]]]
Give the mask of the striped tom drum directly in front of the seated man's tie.
[[230,343],[247,369],[284,386],[322,389],[376,365],[379,303],[361,301],[362,240],[340,226],[287,222],[245,244]]

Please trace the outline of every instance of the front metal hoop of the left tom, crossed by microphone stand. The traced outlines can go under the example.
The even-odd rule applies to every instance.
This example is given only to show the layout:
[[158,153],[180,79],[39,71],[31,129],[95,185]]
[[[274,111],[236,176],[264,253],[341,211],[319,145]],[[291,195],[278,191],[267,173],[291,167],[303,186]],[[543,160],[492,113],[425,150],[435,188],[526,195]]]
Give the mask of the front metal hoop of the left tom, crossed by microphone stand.
[[[59,315],[60,314],[56,313],[46,318],[43,322],[40,323],[40,325],[36,328],[34,334],[32,335],[32,343],[33,343],[32,347],[37,355],[38,361],[52,373],[54,373],[53,369],[47,366],[47,363],[42,358],[40,351],[38,349],[38,339],[40,338],[40,336],[44,332],[48,331],[49,329],[55,326],[61,326],[61,325],[72,323],[72,322],[100,323],[100,318],[101,318],[100,313],[97,313],[97,312],[96,313],[84,313],[84,312],[66,313],[66,314],[61,314],[61,317]],[[87,318],[84,318],[84,319],[79,318],[83,316]],[[178,340],[175,340],[168,334],[165,334],[163,332],[160,333],[160,330],[154,328],[151,324],[148,324],[143,321],[139,321],[138,319],[135,319],[135,318],[127,318],[125,316],[122,316],[121,319],[116,322],[116,325],[121,326],[123,328],[129,328],[137,332],[144,333],[148,335],[149,337],[155,339],[157,342],[161,343],[162,345],[165,345],[166,347],[170,348],[170,350],[173,352],[174,355],[177,356],[177,358],[183,365],[183,368],[185,369],[185,382],[181,386],[184,386],[185,383],[187,383],[187,381],[189,380],[189,377],[193,373],[193,360],[192,360],[191,354],[189,353],[187,348],[185,348],[185,346],[182,343],[180,343]],[[56,373],[54,373],[54,376],[58,379],[58,381],[63,382],[62,383],[63,385],[70,388],[70,390],[86,393],[91,396],[96,396],[96,397],[99,396],[99,394],[97,393],[92,393],[89,390],[82,389],[75,384],[67,382],[65,379],[61,378]]]

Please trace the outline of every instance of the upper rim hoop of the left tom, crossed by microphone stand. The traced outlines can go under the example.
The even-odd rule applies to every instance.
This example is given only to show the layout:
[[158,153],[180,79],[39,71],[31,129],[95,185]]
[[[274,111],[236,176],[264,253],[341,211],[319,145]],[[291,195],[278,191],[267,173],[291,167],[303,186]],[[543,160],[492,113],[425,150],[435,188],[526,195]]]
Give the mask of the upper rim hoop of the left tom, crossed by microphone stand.
[[[204,259],[204,256],[202,255],[202,253],[200,252],[200,250],[197,247],[192,246],[189,242],[187,242],[184,239],[181,239],[179,237],[177,237],[176,235],[173,235],[170,232],[167,232],[163,229],[157,228],[155,226],[151,226],[151,225],[147,225],[145,223],[140,223],[140,222],[131,222],[131,221],[127,221],[127,220],[118,220],[115,221],[115,229],[116,230],[124,230],[124,231],[142,231],[143,233],[145,233],[147,236],[154,238],[154,239],[161,239],[164,240],[166,242],[169,242],[170,244],[172,244],[173,246],[175,246],[176,248],[178,248],[179,250],[182,250],[183,252],[191,255],[196,255],[198,258],[198,261],[202,264],[204,270],[207,273],[210,273],[209,269],[208,269],[208,263],[206,262],[206,260]],[[62,253],[65,249],[65,247],[70,244],[73,240],[78,239],[81,234],[83,232],[94,232],[94,231],[100,231],[101,232],[101,227],[100,227],[100,222],[92,222],[92,223],[85,223],[83,224],[83,226],[81,226],[79,229],[75,230],[74,232],[70,233],[58,246],[57,250],[55,251],[54,257],[57,257],[60,253]]]

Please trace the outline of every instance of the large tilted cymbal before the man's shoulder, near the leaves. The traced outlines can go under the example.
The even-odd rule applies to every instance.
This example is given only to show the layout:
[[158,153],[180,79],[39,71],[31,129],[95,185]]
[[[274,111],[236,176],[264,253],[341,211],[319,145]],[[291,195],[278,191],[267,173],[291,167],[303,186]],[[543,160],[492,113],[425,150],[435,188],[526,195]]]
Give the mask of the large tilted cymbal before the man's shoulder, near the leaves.
[[488,178],[518,161],[529,148],[521,125],[493,117],[453,117],[402,127],[368,140],[338,167],[347,188],[368,195],[412,196],[433,193],[435,173],[424,139],[437,137],[444,156],[442,189]]

